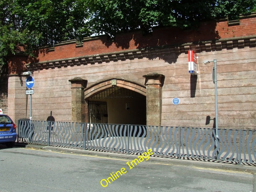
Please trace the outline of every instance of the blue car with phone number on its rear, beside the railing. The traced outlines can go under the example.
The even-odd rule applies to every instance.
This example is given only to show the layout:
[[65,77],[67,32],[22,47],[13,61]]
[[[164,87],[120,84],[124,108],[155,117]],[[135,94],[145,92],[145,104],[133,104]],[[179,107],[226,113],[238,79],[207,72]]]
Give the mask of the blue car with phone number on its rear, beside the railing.
[[8,115],[0,113],[0,144],[12,147],[16,138],[16,125]]

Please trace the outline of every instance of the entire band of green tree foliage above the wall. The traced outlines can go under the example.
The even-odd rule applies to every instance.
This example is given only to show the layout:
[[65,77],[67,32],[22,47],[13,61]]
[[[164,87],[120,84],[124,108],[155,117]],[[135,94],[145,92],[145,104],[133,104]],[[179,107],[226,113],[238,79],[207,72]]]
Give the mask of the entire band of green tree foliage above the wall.
[[154,26],[189,28],[202,20],[256,11],[256,0],[2,0],[0,66],[17,45],[31,54],[36,46],[54,45],[92,34]]

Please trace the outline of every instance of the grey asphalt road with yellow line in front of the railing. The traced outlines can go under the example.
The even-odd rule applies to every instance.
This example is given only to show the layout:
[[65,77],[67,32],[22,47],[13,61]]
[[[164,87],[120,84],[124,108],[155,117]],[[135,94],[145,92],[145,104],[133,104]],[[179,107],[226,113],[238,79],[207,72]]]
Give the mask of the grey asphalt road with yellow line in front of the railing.
[[[135,166],[130,171],[128,169],[128,166],[130,167],[130,165],[128,165],[127,162],[132,162],[132,160],[138,158],[138,154],[128,155],[114,152],[99,152],[75,148],[42,146],[36,144],[26,144],[22,142],[16,143],[16,147],[24,147],[36,150],[36,152],[33,152],[33,154],[35,153],[37,155],[33,155],[32,160],[34,158],[38,159],[35,160],[35,162],[32,162],[32,160],[27,160],[29,162],[28,168],[30,168],[30,170],[33,170],[31,168],[35,164],[34,168],[36,171],[38,171],[38,166],[40,165],[41,168],[44,162],[50,162],[50,165],[47,164],[46,166],[42,166],[42,168],[47,168],[48,166],[52,170],[54,169],[54,166],[70,168],[71,170],[69,171],[72,171],[72,173],[74,172],[76,174],[79,174],[81,172],[81,175],[74,177],[74,181],[77,181],[75,180],[75,178],[83,178],[85,180],[84,183],[86,184],[86,186],[90,185],[94,188],[94,190],[90,189],[90,191],[135,191],[136,189],[138,189],[136,191],[141,191],[142,189],[146,188],[146,190],[150,191],[156,191],[155,189],[161,189],[158,191],[181,192],[185,189],[190,188],[190,191],[256,192],[256,165],[249,166],[229,164],[223,162],[206,162],[202,160],[184,159],[179,160],[175,158],[150,156],[147,163]],[[18,150],[18,148],[14,148],[13,150]],[[45,154],[46,152],[47,155]],[[52,156],[48,154],[48,152],[57,152],[58,156],[63,155],[64,157],[58,157],[58,162],[53,163]],[[16,155],[16,153],[14,152],[12,155]],[[26,152],[26,154],[28,153],[29,151]],[[24,154],[24,152],[17,153],[17,155],[19,156],[21,156],[22,154]],[[70,156],[70,154],[72,154],[72,156]],[[50,161],[45,160],[46,157],[50,158]],[[26,157],[24,156],[24,158]],[[72,160],[70,161],[70,159]],[[40,162],[41,160],[42,162]],[[62,164],[62,161],[66,161],[67,165]],[[81,162],[83,163],[81,164]],[[78,170],[72,170],[73,166],[78,166]],[[80,166],[85,167],[81,168]],[[112,171],[117,171],[118,169],[120,170],[120,168],[122,167],[126,168],[127,174],[124,174],[124,176],[118,178],[115,182],[113,182],[113,184],[111,183],[109,184],[109,186],[104,187],[104,185],[106,185],[106,183],[104,182],[106,182],[105,180],[109,176],[109,173],[111,173]],[[24,169],[24,167],[22,168]],[[91,169],[93,169],[94,172],[90,172],[92,171]],[[40,172],[44,172],[44,170],[45,169],[42,169]],[[56,168],[56,171],[57,170],[62,171],[58,173],[60,175],[67,172],[67,170],[64,168]],[[122,169],[120,171],[122,171]],[[35,173],[34,175],[36,174],[37,173]],[[48,176],[46,176],[45,178],[46,181],[47,177]],[[69,174],[66,175],[66,177],[70,178]],[[90,180],[91,178],[93,179]],[[100,183],[100,179],[105,179],[103,180],[102,184]],[[156,179],[160,179],[160,182]],[[33,178],[31,178],[31,180],[33,180]],[[61,181],[62,180],[59,181],[60,184]],[[72,180],[70,180],[70,182],[71,181]],[[216,184],[214,184],[215,182],[218,182],[220,188],[226,188],[228,190],[217,190]],[[54,183],[54,185],[56,185],[56,183]],[[82,185],[83,183],[80,183],[77,186]],[[62,188],[61,185],[58,187]],[[170,188],[177,190],[170,190]],[[80,191],[80,189],[73,191]]]

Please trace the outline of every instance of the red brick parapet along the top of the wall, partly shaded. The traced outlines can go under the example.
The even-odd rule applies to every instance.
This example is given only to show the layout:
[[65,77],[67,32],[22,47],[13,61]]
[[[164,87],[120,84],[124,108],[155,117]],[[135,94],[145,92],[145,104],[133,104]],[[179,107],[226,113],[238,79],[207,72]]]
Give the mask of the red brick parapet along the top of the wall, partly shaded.
[[235,26],[228,26],[228,21],[224,20],[220,22],[203,22],[198,30],[155,28],[152,34],[148,35],[143,35],[140,31],[117,34],[114,41],[108,40],[106,36],[85,38],[81,47],[76,47],[76,41],[71,40],[66,44],[57,44],[54,47],[54,51],[49,51],[48,49],[40,50],[38,52],[38,61],[251,36],[255,35],[255,23],[256,17],[252,17],[241,18],[240,24]]

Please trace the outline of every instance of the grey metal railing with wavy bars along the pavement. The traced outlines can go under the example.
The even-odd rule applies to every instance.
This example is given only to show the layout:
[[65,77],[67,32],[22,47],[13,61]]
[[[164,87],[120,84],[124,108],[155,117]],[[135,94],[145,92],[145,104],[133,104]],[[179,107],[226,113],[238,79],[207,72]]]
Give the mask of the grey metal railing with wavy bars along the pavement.
[[18,139],[60,147],[252,163],[256,130],[19,120]]

